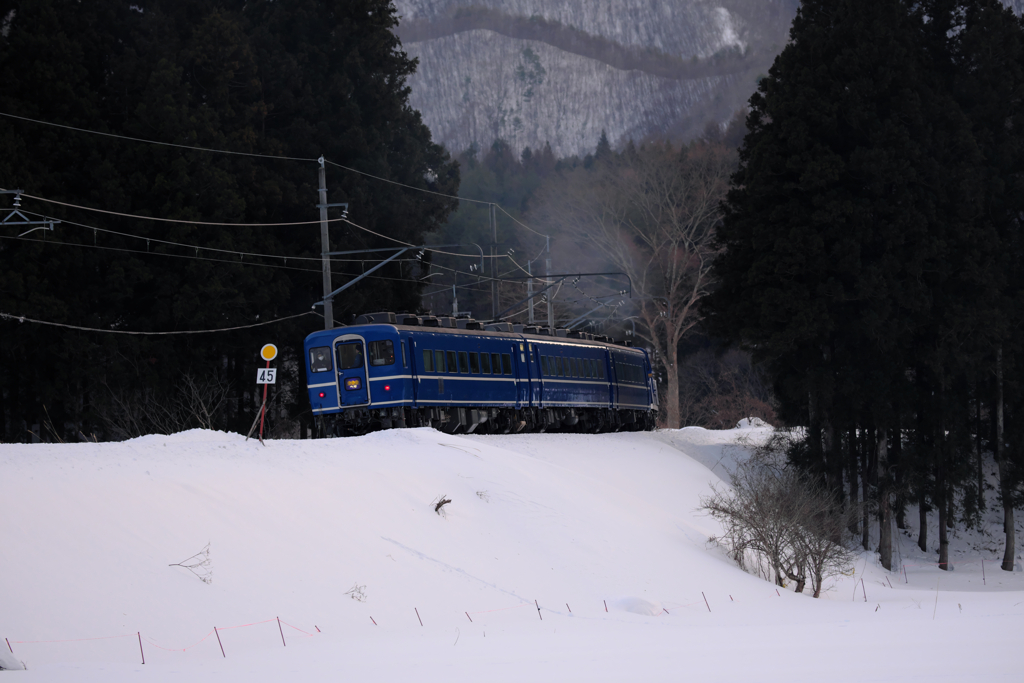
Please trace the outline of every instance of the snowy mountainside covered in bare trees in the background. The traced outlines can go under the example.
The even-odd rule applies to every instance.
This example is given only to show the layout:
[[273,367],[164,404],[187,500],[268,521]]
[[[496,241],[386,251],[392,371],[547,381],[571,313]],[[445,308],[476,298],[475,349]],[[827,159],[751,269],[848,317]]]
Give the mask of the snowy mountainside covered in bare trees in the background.
[[396,0],[412,103],[450,150],[690,136],[743,104],[796,0]]

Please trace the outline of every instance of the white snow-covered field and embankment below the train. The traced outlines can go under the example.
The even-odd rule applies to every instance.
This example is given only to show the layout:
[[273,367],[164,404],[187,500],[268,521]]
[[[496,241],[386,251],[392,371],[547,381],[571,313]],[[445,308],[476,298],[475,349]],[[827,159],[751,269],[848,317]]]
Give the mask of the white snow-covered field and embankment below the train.
[[[865,553],[820,600],[709,546],[698,497],[763,433],[3,444],[0,677],[1024,680],[997,538],[940,572],[901,535],[906,578]],[[207,543],[211,583],[169,566]]]

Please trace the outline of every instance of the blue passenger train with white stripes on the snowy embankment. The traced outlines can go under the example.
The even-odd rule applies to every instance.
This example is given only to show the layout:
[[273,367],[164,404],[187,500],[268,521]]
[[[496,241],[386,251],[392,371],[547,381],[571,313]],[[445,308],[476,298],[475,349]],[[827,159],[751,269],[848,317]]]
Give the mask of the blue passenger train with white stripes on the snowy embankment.
[[647,352],[586,333],[387,312],[304,351],[316,436],[649,430],[657,416]]

